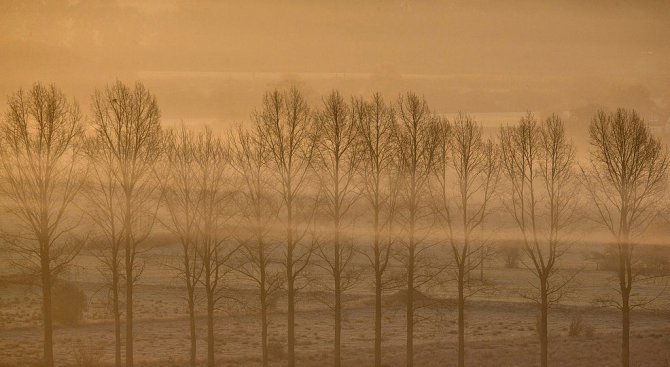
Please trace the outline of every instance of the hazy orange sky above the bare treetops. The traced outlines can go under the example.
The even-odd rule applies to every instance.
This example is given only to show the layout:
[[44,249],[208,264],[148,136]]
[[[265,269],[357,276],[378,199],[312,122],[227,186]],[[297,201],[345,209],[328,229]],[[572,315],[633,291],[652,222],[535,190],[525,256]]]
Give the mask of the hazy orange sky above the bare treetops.
[[[247,119],[298,82],[440,112],[670,113],[670,2],[0,0],[0,95],[142,80],[166,120]],[[4,108],[0,107],[0,108]]]

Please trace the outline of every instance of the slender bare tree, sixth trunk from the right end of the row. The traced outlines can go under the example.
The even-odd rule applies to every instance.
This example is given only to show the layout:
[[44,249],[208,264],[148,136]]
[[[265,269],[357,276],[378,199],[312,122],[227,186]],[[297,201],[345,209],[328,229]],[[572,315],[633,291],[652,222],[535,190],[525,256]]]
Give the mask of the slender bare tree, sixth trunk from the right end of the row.
[[324,98],[323,109],[316,114],[315,123],[319,137],[314,166],[325,201],[326,217],[332,225],[327,230],[325,243],[319,246],[319,256],[333,277],[334,365],[339,367],[342,363],[342,293],[356,284],[359,273],[352,264],[353,244],[343,239],[345,218],[358,197],[354,185],[359,162],[358,131],[351,108],[338,91]]

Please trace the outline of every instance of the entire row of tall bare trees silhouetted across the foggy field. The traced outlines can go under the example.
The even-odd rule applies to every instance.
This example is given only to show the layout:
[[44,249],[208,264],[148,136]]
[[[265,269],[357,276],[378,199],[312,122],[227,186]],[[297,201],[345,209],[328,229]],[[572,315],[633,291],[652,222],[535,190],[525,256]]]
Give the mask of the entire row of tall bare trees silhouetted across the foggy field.
[[[494,251],[487,226],[510,223],[518,262],[533,275],[524,294],[538,305],[539,360],[548,365],[548,318],[575,276],[562,260],[580,219],[611,236],[602,258],[620,293],[603,302],[622,314],[622,366],[629,365],[630,313],[641,281],[667,264],[640,262],[641,236],[664,206],[668,153],[633,110],[600,111],[591,121],[590,158],[578,162],[557,115],[486,137],[470,115],[444,118],[421,96],[345,97],[310,105],[296,88],[267,92],[251,123],[219,135],[210,128],[164,129],[156,97],[141,83],[94,92],[86,117],[54,85],[8,99],[0,123],[0,193],[16,221],[1,228],[16,265],[42,290],[44,364],[54,366],[53,291],[87,242],[97,247],[112,298],[115,365],[133,366],[134,289],[143,243],[171,233],[172,268],[183,281],[197,364],[196,314],[207,315],[207,366],[215,360],[215,310],[232,274],[258,289],[262,365],[269,363],[269,312],[285,294],[288,366],[296,364],[296,300],[318,286],[332,310],[333,364],[342,364],[343,295],[374,289],[374,360],[383,363],[383,294],[403,290],[406,365],[414,362],[420,291],[453,281],[458,314],[455,359],[465,365],[466,300],[490,286]],[[93,230],[80,230],[81,223]],[[356,261],[363,258],[363,263]],[[650,268],[651,267],[651,268]],[[400,270],[398,270],[400,269]],[[480,276],[475,279],[479,269]],[[318,280],[315,272],[327,274]],[[125,309],[124,309],[125,308]],[[125,353],[122,348],[125,347]]]

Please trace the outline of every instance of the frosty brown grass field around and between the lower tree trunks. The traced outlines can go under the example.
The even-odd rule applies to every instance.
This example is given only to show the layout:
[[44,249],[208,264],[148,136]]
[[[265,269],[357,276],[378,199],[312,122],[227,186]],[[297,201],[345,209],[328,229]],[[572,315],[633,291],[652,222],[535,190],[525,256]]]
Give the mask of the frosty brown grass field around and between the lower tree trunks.
[[[84,290],[88,309],[77,326],[55,332],[58,365],[105,366],[113,362],[114,326],[106,307],[102,278],[88,265],[71,274]],[[189,348],[186,302],[179,280],[158,264],[149,264],[136,290],[135,360],[138,366],[186,366]],[[491,287],[468,301],[466,309],[466,362],[472,366],[535,366],[539,343],[535,331],[536,308],[523,294],[531,279],[524,269],[507,269],[492,262],[485,276]],[[224,366],[260,365],[260,326],[253,310],[254,291],[243,282],[231,292],[237,300],[222,304],[216,322],[217,359]],[[616,309],[597,307],[594,300],[607,295],[610,275],[581,269],[574,289],[550,314],[550,364],[554,366],[616,366],[620,351],[620,316]],[[456,310],[448,289],[434,287],[421,295],[415,331],[417,366],[456,365]],[[641,287],[641,294],[655,294],[663,284]],[[430,295],[428,295],[430,294]],[[0,290],[0,366],[37,365],[41,355],[39,293],[36,288],[6,285]],[[316,291],[302,293],[297,314],[297,356],[300,366],[332,363],[333,321]],[[280,300],[271,315],[272,365],[285,365],[286,314]],[[403,293],[384,298],[383,363],[402,366],[405,361],[405,311]],[[343,329],[343,364],[373,364],[373,305],[370,289],[362,284],[347,295]],[[632,365],[670,364],[670,295],[662,293],[650,308],[633,316]],[[202,308],[202,307],[201,307]],[[203,310],[204,311],[204,310]],[[583,331],[569,336],[571,322],[581,320]],[[198,355],[205,356],[206,319],[197,321]]]

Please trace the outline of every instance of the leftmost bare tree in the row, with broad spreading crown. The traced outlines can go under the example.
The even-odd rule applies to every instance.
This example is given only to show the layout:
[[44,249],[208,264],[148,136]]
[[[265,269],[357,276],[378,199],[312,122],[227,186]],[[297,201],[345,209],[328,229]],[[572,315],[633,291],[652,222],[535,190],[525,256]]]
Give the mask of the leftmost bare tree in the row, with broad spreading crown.
[[8,100],[0,125],[2,183],[16,233],[5,236],[22,263],[40,279],[44,365],[53,367],[53,283],[79,252],[68,215],[84,182],[77,161],[82,126],[76,103],[54,85],[35,84]]

